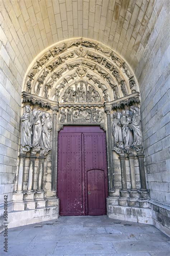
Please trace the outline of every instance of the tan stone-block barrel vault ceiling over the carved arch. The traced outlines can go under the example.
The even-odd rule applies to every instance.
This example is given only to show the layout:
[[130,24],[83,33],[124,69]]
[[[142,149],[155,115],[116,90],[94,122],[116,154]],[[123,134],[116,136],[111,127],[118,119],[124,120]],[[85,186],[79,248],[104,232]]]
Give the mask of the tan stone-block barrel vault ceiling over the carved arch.
[[23,69],[22,76],[49,45],[81,36],[113,48],[135,71],[142,54],[147,56],[148,39],[154,25],[159,26],[157,17],[163,3],[163,0],[1,0],[1,41],[15,65]]

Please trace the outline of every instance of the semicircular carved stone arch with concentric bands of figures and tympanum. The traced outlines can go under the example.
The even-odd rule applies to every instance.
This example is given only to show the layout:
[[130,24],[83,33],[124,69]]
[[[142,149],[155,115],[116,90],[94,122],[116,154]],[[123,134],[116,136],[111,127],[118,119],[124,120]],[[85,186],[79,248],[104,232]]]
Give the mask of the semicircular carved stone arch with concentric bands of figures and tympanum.
[[78,38],[39,56],[25,78],[24,91],[59,104],[103,104],[137,92],[138,85],[112,49]]

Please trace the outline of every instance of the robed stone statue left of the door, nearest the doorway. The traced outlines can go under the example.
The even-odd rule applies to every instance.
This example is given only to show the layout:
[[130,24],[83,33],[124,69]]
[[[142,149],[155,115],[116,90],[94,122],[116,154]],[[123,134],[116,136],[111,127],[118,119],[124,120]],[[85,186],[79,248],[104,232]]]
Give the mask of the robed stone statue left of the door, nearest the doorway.
[[50,150],[50,132],[52,129],[52,121],[50,120],[50,115],[48,112],[42,114],[42,140],[41,147],[43,149]]

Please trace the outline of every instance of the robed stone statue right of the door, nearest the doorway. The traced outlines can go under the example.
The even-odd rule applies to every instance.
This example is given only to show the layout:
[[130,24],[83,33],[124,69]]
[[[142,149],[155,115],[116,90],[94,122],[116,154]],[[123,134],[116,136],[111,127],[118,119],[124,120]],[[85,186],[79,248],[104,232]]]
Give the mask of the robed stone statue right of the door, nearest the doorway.
[[114,147],[122,147],[123,137],[120,119],[118,119],[118,113],[113,114],[112,133],[114,137]]

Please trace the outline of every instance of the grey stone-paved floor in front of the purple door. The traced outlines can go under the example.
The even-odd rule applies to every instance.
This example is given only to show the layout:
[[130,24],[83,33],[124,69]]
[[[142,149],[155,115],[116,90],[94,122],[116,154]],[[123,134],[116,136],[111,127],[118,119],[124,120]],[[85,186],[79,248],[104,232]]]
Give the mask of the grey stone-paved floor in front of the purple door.
[[[42,227],[34,228],[35,225]],[[1,256],[170,255],[170,239],[154,226],[118,221],[107,216],[59,217],[53,221],[9,229],[8,253],[3,252],[3,241],[1,233]]]

